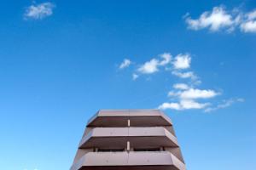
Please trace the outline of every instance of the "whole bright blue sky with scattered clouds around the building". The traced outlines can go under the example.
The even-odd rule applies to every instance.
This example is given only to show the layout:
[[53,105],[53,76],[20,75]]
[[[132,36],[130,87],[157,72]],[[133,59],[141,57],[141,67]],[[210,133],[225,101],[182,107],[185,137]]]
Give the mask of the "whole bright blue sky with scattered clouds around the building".
[[68,169],[90,116],[135,108],[171,116],[189,170],[256,169],[255,1],[0,8],[1,169]]

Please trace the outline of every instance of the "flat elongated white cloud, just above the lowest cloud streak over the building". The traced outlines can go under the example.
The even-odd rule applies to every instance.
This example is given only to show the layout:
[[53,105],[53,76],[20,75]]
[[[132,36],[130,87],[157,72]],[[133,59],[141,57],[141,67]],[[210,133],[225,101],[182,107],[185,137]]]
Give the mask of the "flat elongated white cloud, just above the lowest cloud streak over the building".
[[214,90],[201,90],[196,88],[189,88],[183,91],[179,96],[182,99],[207,99],[218,95]]

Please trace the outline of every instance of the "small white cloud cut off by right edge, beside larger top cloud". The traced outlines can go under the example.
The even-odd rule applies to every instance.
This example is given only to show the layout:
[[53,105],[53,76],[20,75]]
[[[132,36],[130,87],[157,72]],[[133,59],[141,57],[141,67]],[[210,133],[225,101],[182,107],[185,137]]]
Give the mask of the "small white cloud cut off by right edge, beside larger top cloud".
[[241,23],[241,31],[256,32],[256,9],[253,12],[245,14],[246,19]]

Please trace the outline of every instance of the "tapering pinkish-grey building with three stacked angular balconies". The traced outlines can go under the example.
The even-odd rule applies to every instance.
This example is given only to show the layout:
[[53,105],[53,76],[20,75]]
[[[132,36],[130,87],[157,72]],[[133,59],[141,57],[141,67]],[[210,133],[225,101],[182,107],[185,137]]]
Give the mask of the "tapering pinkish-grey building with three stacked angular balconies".
[[185,170],[171,119],[159,110],[98,111],[70,170]]

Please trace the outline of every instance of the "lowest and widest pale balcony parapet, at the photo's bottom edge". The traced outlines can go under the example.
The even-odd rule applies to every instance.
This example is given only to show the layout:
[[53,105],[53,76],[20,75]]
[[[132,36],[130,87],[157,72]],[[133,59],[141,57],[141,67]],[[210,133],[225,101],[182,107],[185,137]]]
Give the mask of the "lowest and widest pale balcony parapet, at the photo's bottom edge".
[[167,151],[89,152],[70,170],[185,170],[185,165]]

